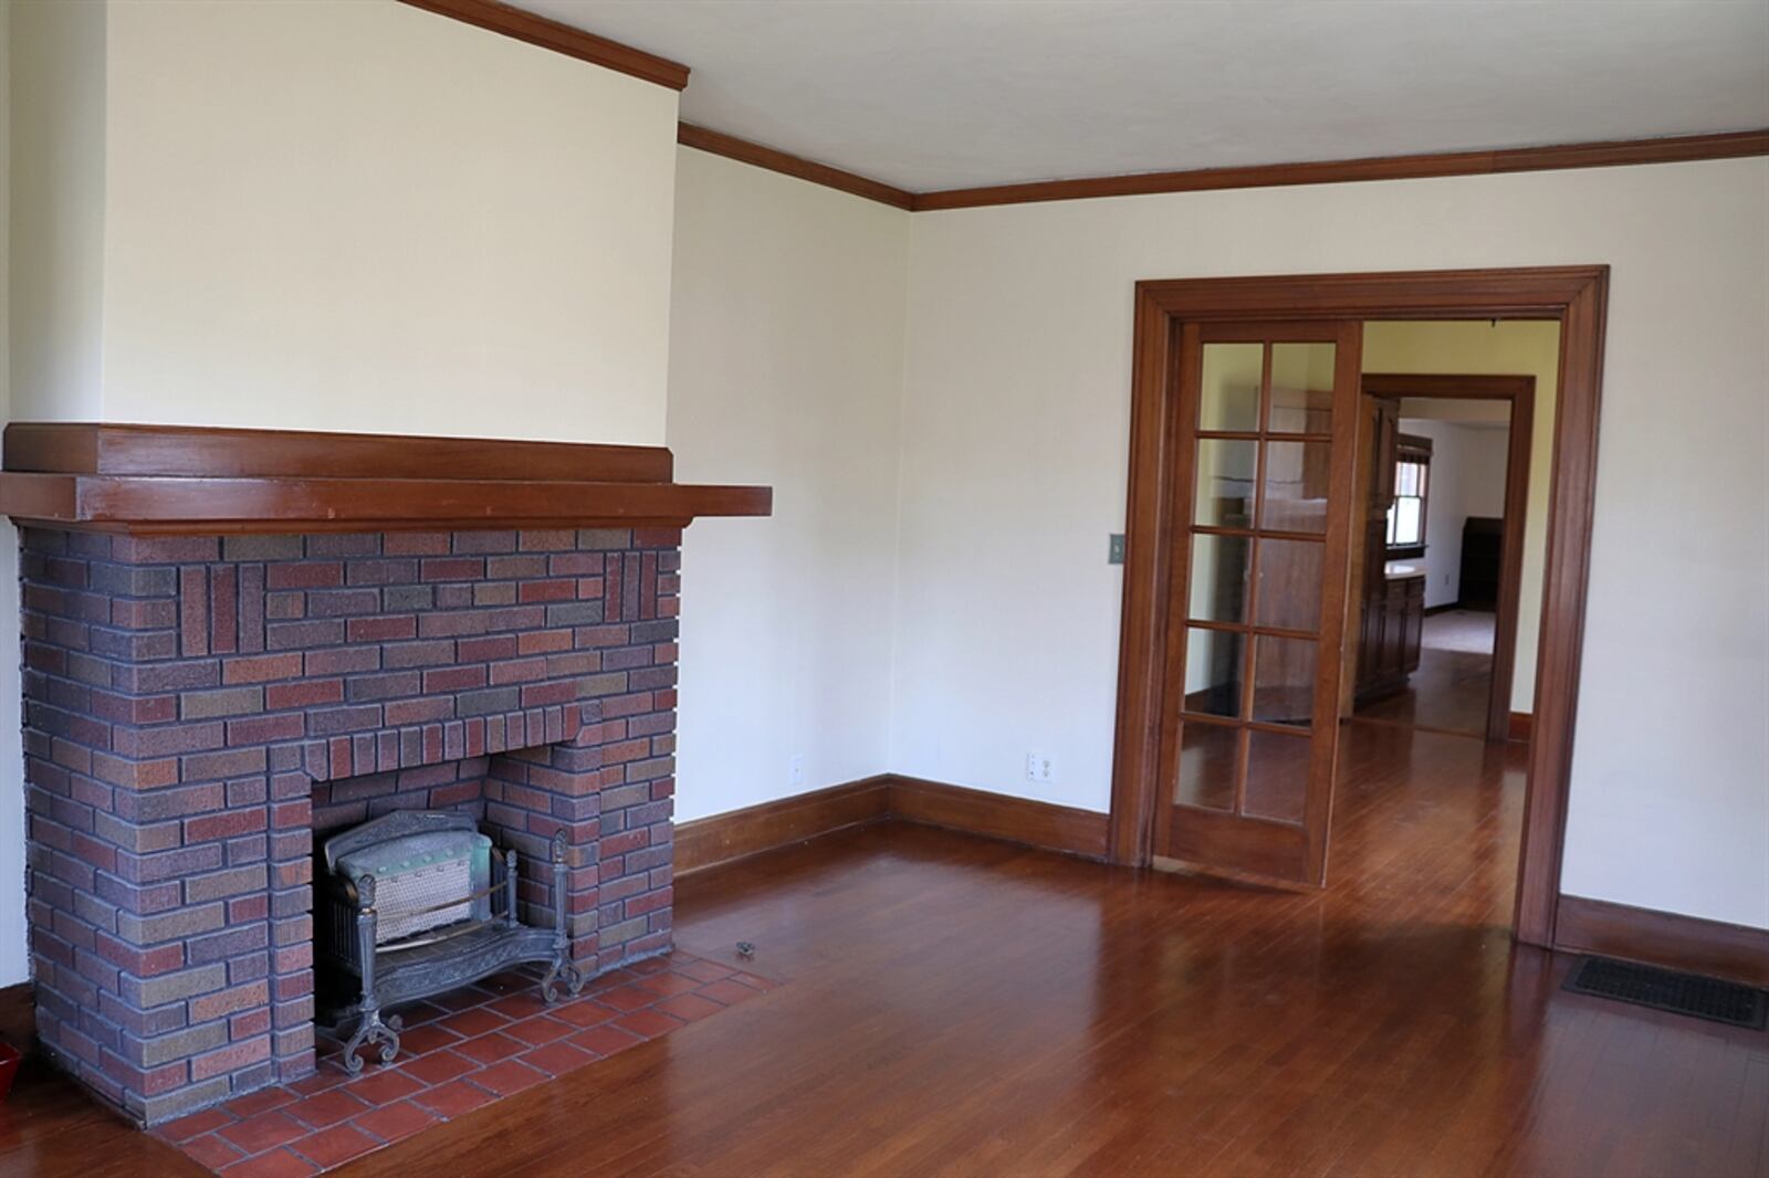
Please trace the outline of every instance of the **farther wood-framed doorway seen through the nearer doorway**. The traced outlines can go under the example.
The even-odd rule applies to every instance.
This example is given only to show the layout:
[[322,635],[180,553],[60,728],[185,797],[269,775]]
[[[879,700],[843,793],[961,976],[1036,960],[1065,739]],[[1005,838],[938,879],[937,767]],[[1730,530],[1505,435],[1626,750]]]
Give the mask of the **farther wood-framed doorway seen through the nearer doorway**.
[[[1539,384],[1543,409],[1553,412],[1557,325],[1366,329],[1376,347],[1421,343],[1422,363],[1521,361],[1539,371],[1366,371],[1355,490],[1362,527],[1352,539],[1359,619],[1341,716],[1527,739],[1532,686],[1525,674],[1518,690],[1514,676],[1520,633],[1534,635],[1518,616],[1530,506],[1546,506],[1548,472],[1532,470],[1530,458]],[[1539,614],[1539,596],[1532,605]]]

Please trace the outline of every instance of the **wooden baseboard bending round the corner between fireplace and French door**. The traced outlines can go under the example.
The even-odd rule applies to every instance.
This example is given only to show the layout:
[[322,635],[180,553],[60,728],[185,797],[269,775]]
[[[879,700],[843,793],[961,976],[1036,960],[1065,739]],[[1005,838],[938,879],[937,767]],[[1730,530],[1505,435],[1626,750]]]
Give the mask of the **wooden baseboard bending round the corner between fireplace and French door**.
[[1107,815],[884,773],[676,826],[676,874],[884,819],[1106,858]]

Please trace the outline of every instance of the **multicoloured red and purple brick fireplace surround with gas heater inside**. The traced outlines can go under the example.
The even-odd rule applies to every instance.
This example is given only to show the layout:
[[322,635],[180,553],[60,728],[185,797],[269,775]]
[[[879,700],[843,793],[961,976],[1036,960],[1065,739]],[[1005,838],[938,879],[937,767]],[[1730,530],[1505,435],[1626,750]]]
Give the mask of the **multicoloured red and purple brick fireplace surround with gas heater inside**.
[[[520,853],[524,920],[540,925],[552,923],[545,865],[564,831],[568,932],[586,975],[669,952],[678,545],[692,511],[633,527],[417,531],[402,518],[290,531],[347,522],[357,476],[315,478],[333,506],[297,499],[274,532],[242,531],[278,511],[258,490],[214,534],[94,531],[78,516],[94,499],[44,509],[44,485],[12,474],[44,462],[18,444],[19,428],[0,501],[23,516],[37,1029],[81,1082],[156,1125],[311,1072],[315,830],[394,808],[472,812]],[[534,446],[509,456],[538,455],[547,476]],[[106,462],[149,462],[96,451],[96,476]],[[416,453],[421,467],[458,467],[440,444],[403,453],[407,465]],[[260,462],[287,465],[287,447]],[[410,513],[456,522],[460,497],[515,493],[472,469],[451,474],[417,488],[455,497],[440,506],[405,486]],[[218,493],[228,481],[156,478]],[[117,481],[131,479],[154,481]],[[541,486],[578,495],[559,508],[578,518],[598,515],[586,486],[612,486],[603,502],[660,490],[639,478]],[[131,511],[166,527],[154,511],[196,502],[173,490]],[[375,493],[361,513],[384,518]]]

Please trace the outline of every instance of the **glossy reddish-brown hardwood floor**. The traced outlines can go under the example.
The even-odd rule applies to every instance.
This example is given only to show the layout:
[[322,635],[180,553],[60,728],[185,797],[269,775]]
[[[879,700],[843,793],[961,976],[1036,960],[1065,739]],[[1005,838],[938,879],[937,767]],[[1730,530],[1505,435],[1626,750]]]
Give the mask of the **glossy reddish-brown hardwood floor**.
[[[1564,994],[1512,946],[1523,752],[1346,731],[1330,888],[909,826],[683,881],[777,991],[345,1174],[1769,1174],[1769,1036]],[[196,1173],[58,1081],[4,1174]]]

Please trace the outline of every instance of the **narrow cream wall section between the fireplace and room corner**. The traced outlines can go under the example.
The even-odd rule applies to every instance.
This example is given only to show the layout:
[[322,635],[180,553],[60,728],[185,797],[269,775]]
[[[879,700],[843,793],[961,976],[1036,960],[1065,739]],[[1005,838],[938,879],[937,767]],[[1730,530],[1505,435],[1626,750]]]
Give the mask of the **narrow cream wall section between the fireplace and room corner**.
[[683,538],[678,819],[888,764],[907,233],[899,209],[681,149],[676,474],[771,483],[775,513]]

